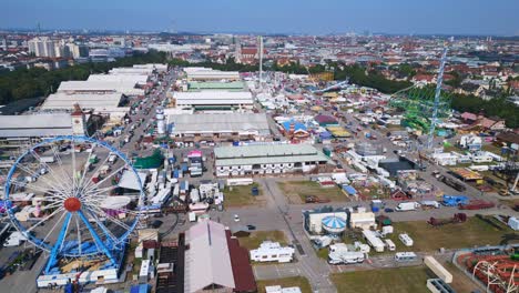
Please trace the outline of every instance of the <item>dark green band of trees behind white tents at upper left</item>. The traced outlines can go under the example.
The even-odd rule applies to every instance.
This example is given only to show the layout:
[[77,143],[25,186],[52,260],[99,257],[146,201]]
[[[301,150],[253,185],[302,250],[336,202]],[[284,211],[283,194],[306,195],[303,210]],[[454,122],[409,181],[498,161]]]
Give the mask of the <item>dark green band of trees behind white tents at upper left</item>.
[[0,74],[0,104],[27,98],[45,97],[54,92],[60,82],[86,80],[91,73],[105,73],[115,67],[144,63],[164,63],[166,55],[159,52],[134,54],[113,62],[88,62],[48,71],[42,68],[18,69]]

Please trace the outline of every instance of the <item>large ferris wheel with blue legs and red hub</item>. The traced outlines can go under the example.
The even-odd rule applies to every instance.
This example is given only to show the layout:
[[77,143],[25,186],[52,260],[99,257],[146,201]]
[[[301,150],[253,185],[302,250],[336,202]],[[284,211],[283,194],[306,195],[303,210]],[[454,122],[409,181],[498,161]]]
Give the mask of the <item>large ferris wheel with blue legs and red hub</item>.
[[[122,178],[134,188],[121,188]],[[141,178],[128,158],[86,137],[58,137],[33,145],[16,160],[4,184],[12,224],[50,253],[45,273],[60,257],[99,255],[116,265],[143,201]]]

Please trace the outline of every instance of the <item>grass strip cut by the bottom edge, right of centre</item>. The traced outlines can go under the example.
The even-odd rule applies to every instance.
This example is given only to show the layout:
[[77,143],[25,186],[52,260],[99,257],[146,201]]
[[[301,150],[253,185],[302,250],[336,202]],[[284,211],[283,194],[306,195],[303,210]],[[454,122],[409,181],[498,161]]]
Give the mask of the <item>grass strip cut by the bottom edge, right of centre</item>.
[[335,273],[330,279],[340,293],[426,293],[426,282],[431,276],[425,266],[410,266]]

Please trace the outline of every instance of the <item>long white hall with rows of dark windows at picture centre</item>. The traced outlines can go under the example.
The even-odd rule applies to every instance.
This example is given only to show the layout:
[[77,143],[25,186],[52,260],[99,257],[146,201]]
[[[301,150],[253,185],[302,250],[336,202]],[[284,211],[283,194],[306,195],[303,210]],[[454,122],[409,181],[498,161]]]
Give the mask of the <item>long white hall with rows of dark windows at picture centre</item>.
[[328,158],[309,144],[261,144],[214,149],[216,176],[315,171]]

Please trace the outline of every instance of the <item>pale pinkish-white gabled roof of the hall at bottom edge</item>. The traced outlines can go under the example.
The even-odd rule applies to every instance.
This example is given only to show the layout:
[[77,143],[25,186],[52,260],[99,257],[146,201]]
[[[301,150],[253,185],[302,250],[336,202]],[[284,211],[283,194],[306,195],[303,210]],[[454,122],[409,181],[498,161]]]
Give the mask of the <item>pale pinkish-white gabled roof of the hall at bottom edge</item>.
[[227,238],[223,224],[204,221],[187,230],[184,291],[200,292],[211,284],[235,287]]

